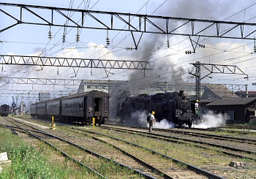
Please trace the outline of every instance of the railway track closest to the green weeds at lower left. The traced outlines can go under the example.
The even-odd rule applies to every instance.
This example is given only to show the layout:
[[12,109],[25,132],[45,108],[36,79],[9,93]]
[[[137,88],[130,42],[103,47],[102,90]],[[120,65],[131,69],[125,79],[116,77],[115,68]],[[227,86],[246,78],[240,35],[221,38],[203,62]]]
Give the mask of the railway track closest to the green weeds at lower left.
[[[19,124],[18,124],[19,123]],[[20,123],[20,121],[15,121],[13,123],[15,126],[10,125],[2,125],[8,127],[10,129],[15,129],[17,132],[23,132],[29,134],[33,137],[36,137],[39,140],[42,140],[46,144],[53,147],[56,151],[59,151],[63,156],[75,161],[75,163],[79,164],[80,166],[86,167],[87,170],[94,172],[95,175],[98,175],[99,178],[118,178],[118,176],[124,175],[128,178],[156,178],[154,176],[146,174],[146,172],[140,172],[138,170],[133,169],[127,165],[121,164],[118,161],[114,161],[108,157],[102,156],[99,153],[91,151],[87,148],[84,148],[81,145],[76,144],[75,142],[69,141],[64,139],[63,137],[58,137],[54,134],[50,134],[48,132],[43,132],[34,128],[34,126],[30,126],[26,123]],[[26,127],[26,128],[25,128]],[[70,148],[67,145],[72,145],[75,148],[72,148],[72,153],[75,153],[74,150],[78,150],[76,153],[78,155],[74,156],[68,149]],[[86,159],[81,158],[81,156],[86,156]],[[88,162],[93,161],[93,162]],[[103,164],[108,164],[111,170],[110,172],[116,171],[113,173],[112,176],[106,175],[106,171],[97,171],[100,170],[100,167]],[[85,164],[87,163],[87,164]],[[114,168],[117,169],[115,170]],[[152,172],[153,173],[153,172]]]

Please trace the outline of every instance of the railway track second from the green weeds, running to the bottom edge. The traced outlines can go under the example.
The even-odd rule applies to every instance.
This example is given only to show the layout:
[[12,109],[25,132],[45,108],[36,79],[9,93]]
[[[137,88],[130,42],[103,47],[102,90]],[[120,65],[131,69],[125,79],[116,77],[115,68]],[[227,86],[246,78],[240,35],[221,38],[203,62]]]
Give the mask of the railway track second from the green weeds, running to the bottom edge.
[[[67,126],[65,126],[65,128],[67,130]],[[76,131],[76,133],[78,132],[77,127],[73,127],[72,130]],[[172,176],[172,172],[175,173],[175,171],[183,173],[181,178],[186,178],[186,176],[189,176],[189,178],[191,178],[191,176],[195,176],[195,178],[222,178],[218,175],[212,174],[211,172],[201,170],[200,168],[186,164],[182,161],[178,161],[157,151],[152,151],[149,148],[144,148],[143,146],[136,145],[132,142],[127,142],[116,137],[111,137],[105,134],[91,132],[84,129],[79,129],[79,134],[86,135],[87,137],[91,137],[94,140],[98,140],[100,142],[111,145],[113,148],[121,151],[121,153],[124,153],[125,155],[134,159],[136,162],[139,162],[141,165],[143,165],[143,167],[151,170],[154,174],[157,174],[157,178],[175,178]],[[142,153],[142,151],[144,152]],[[159,156],[161,156],[161,159],[159,159]],[[177,164],[185,167],[178,167]],[[188,172],[189,170],[192,172]]]

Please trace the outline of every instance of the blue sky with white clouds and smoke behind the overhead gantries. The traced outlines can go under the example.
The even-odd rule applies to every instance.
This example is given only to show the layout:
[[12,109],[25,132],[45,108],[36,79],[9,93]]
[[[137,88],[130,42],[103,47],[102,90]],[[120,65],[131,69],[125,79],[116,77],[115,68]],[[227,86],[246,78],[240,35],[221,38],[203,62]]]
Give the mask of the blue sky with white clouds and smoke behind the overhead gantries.
[[[70,1],[29,1],[29,0],[8,0],[7,3],[14,4],[33,4],[39,6],[65,7],[68,8]],[[173,16],[181,18],[199,18],[208,20],[227,20],[238,22],[255,23],[255,1],[204,1],[204,0],[175,0],[175,1],[110,1],[110,0],[91,0],[81,1],[74,0],[72,8],[84,9],[89,8],[99,11],[110,12],[130,12],[148,15]],[[86,2],[90,2],[86,4]],[[89,6],[88,6],[89,5]],[[252,7],[250,7],[252,6]],[[12,13],[17,9],[13,7],[1,6],[1,9],[7,10],[12,8]],[[244,10],[243,10],[244,9]],[[43,13],[43,12],[42,12]],[[24,12],[24,16],[30,18],[29,13]],[[10,18],[0,12],[0,28],[4,28],[13,23]],[[77,17],[78,19],[78,17]],[[35,20],[35,19],[34,19]],[[256,28],[255,28],[256,29]],[[67,42],[61,43],[61,36],[64,28],[51,27],[54,38],[48,39],[48,26],[34,26],[20,24],[8,29],[0,34],[0,54],[14,54],[31,56],[38,55],[44,50],[45,56],[59,56],[70,58],[100,58],[100,59],[123,59],[137,60],[146,59],[154,64],[154,72],[148,73],[146,78],[143,73],[128,70],[111,70],[113,75],[106,77],[104,69],[79,69],[77,77],[74,77],[73,69],[48,67],[37,71],[35,68],[26,68],[26,66],[4,66],[1,72],[6,77],[45,77],[45,78],[63,78],[63,79],[84,79],[84,80],[135,80],[136,83],[150,80],[168,79],[170,82],[183,81],[184,83],[194,83],[187,75],[187,69],[195,61],[202,63],[219,63],[237,65],[246,74],[249,74],[249,80],[244,80],[239,75],[213,75],[211,79],[204,79],[202,83],[232,83],[249,85],[250,90],[255,90],[252,83],[256,81],[256,73],[253,52],[253,41],[241,39],[220,39],[211,38],[203,39],[206,45],[205,49],[198,48],[195,54],[186,55],[185,50],[192,50],[191,44],[187,37],[171,36],[170,49],[166,49],[167,37],[155,34],[143,34],[138,50],[127,51],[125,47],[133,46],[132,37],[129,32],[109,31],[108,36],[111,45],[114,48],[105,47],[107,31],[102,30],[80,30],[80,42],[75,42],[76,28],[67,28]],[[56,45],[58,44],[58,45]],[[181,50],[184,49],[184,50]],[[232,50],[230,50],[232,49]],[[149,56],[148,58],[146,58]],[[165,68],[165,66],[169,66]],[[180,70],[182,69],[182,70]],[[182,74],[181,74],[182,73]],[[159,78],[159,79],[158,79]],[[0,82],[1,83],[1,82]],[[53,90],[53,86],[29,86],[29,85],[4,85],[1,89],[37,89]],[[55,86],[54,89],[64,90],[63,86]],[[76,88],[74,88],[76,90]]]

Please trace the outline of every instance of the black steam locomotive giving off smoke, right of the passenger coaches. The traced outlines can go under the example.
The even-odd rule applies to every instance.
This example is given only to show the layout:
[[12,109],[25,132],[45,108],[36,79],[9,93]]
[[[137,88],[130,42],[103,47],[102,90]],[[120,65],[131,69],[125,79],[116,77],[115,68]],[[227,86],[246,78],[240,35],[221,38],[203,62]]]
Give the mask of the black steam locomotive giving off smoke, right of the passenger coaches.
[[182,126],[184,123],[189,127],[195,120],[195,104],[192,103],[184,91],[165,94],[140,94],[139,96],[125,99],[118,105],[118,117],[121,120],[129,120],[136,111],[154,111],[158,121],[167,119]]

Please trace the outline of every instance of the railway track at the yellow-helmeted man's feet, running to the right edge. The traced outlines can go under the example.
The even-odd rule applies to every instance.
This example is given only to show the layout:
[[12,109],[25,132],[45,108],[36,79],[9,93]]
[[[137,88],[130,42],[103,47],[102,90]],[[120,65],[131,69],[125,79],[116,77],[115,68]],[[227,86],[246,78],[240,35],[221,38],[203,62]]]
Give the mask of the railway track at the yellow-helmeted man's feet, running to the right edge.
[[[135,129],[127,129],[116,126],[102,126],[102,128],[117,130],[118,132],[130,132],[131,134],[136,132],[136,134],[152,137],[159,140],[195,145],[199,148],[215,150],[219,153],[225,153],[230,156],[252,159],[256,161],[256,140],[249,140],[238,137],[225,137],[213,134],[199,134],[180,129],[154,129],[156,132],[148,133],[146,132],[147,129],[138,127],[135,127]],[[223,141],[225,141],[225,143],[223,143]]]

